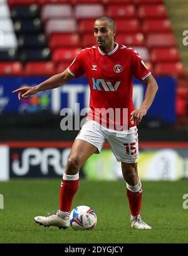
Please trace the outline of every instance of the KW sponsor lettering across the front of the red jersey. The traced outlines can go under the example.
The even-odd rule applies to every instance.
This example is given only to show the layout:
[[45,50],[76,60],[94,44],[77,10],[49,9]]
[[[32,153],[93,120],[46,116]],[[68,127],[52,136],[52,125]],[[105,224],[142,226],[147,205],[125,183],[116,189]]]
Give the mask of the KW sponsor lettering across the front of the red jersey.
[[115,84],[112,84],[112,82],[105,81],[104,79],[95,80],[94,77],[92,77],[92,81],[93,81],[93,89],[98,91],[102,91],[102,88],[105,91],[117,91],[121,82],[121,81],[117,81],[115,82]]

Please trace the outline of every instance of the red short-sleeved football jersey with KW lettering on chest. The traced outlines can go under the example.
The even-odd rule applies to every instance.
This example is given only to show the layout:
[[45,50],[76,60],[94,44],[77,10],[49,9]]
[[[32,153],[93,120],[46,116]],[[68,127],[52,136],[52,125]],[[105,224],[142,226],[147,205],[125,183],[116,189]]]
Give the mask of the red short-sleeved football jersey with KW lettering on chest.
[[68,67],[75,77],[86,74],[90,84],[88,118],[113,130],[128,130],[134,110],[133,75],[140,81],[151,72],[136,50],[116,43],[112,52],[103,53],[95,45],[81,50]]

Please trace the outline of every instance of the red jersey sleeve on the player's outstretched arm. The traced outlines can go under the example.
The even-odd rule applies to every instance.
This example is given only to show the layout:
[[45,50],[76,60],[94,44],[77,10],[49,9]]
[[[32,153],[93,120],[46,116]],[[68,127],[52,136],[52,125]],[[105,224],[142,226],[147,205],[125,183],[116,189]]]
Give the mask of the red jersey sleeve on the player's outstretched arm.
[[80,77],[81,75],[85,74],[85,69],[81,64],[82,55],[82,52],[78,53],[71,65],[68,67],[68,72],[70,72],[73,77]]

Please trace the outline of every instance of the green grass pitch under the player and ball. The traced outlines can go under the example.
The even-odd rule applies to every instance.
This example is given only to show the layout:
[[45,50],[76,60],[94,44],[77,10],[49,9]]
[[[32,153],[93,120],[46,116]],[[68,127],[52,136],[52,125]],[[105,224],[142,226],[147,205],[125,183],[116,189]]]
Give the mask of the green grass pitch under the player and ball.
[[92,231],[44,228],[33,218],[58,209],[61,179],[0,182],[0,243],[188,243],[188,181],[142,182],[142,219],[152,230],[133,230],[123,181],[80,181],[73,208],[95,209]]

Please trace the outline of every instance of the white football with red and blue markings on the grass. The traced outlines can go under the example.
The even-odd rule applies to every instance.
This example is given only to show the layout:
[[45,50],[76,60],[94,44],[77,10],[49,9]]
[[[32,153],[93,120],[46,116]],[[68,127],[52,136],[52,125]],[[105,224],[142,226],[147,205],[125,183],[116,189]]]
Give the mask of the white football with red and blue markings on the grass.
[[71,211],[70,225],[73,230],[93,230],[97,224],[97,215],[89,206],[77,206]]

